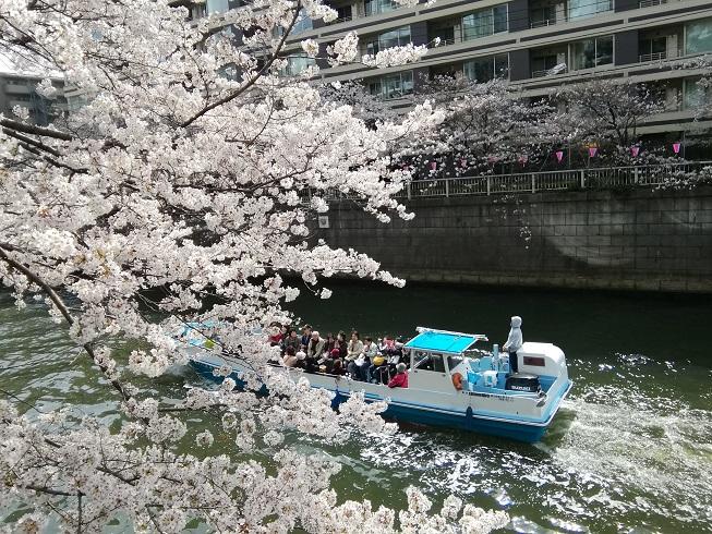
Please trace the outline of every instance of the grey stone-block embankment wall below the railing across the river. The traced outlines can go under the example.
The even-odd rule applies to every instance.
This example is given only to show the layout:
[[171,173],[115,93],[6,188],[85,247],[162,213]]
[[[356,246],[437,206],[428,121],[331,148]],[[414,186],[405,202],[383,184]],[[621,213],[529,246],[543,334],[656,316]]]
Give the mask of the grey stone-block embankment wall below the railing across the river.
[[[333,246],[412,281],[712,292],[712,187],[411,201],[384,224],[334,203]],[[326,221],[322,218],[321,226]]]

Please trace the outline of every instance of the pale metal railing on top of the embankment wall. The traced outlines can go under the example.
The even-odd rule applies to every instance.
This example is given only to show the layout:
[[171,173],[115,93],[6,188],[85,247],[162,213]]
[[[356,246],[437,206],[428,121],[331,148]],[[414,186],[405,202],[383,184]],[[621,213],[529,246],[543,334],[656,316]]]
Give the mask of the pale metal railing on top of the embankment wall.
[[[690,161],[631,167],[601,167],[565,169],[557,171],[521,172],[516,174],[484,174],[476,177],[429,178],[406,183],[396,198],[429,198],[466,195],[500,195],[538,193],[541,191],[581,191],[614,187],[654,186],[674,179],[693,175],[712,161]],[[312,193],[309,192],[311,199]],[[354,194],[329,191],[321,196],[326,199],[357,199]]]

